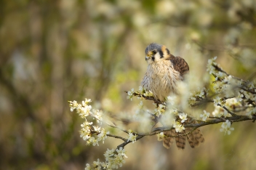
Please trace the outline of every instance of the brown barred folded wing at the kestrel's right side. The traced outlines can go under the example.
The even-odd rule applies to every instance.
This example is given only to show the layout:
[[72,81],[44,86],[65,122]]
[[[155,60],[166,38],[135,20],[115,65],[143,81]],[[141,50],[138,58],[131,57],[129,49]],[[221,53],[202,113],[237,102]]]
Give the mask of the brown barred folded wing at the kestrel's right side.
[[185,73],[188,73],[188,63],[185,62],[185,60],[182,57],[172,57],[170,61],[173,64],[173,68],[180,72],[180,76],[184,76]]

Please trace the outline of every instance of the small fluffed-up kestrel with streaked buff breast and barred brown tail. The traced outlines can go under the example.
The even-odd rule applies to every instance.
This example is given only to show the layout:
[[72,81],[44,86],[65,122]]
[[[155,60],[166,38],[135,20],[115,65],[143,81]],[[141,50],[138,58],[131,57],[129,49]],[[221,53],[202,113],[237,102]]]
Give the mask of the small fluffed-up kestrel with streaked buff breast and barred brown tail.
[[[155,100],[160,102],[164,102],[169,94],[178,95],[178,82],[184,81],[185,75],[189,73],[188,63],[182,57],[172,55],[167,46],[156,43],[151,43],[146,47],[145,60],[148,62],[148,68],[141,82],[143,89],[151,91]],[[190,121],[188,118],[185,123]],[[190,123],[193,124],[196,121]],[[186,138],[192,148],[204,142],[200,129],[186,128],[182,132],[172,129],[164,131],[164,135],[163,145],[167,149],[172,146],[174,139],[178,149],[185,148]]]

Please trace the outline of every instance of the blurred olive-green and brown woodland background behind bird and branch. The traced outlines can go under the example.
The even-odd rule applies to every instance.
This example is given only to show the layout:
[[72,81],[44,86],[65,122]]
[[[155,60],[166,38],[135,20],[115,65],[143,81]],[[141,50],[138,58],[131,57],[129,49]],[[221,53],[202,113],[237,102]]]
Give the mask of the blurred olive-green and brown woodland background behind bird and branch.
[[[145,47],[165,44],[205,78],[207,60],[233,76],[256,74],[255,0],[2,0],[0,5],[0,169],[84,169],[119,139],[85,145],[68,100],[130,114],[124,90],[138,89]],[[204,108],[212,112],[212,108]],[[256,169],[256,127],[201,128],[196,149],[166,150],[156,137],[127,145],[122,169]],[[188,143],[187,143],[188,145]]]

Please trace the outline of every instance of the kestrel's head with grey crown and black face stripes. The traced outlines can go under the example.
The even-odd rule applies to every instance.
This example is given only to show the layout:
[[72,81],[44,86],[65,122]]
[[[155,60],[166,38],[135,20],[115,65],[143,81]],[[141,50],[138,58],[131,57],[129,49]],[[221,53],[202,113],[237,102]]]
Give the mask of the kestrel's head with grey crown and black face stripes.
[[145,60],[148,64],[158,62],[171,57],[169,49],[166,46],[156,43],[151,43],[145,48]]

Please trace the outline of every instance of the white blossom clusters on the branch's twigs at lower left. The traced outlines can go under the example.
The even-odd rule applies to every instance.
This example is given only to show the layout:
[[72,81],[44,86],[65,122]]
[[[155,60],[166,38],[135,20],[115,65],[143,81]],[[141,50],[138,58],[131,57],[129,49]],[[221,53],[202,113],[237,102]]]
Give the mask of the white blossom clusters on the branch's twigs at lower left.
[[[89,102],[91,102],[91,100],[85,99],[82,101],[82,104],[78,104],[74,100],[73,102],[69,101],[69,105],[71,107],[71,111],[76,110],[76,113],[79,113],[79,116],[85,119],[84,123],[81,124],[81,130],[79,131],[80,137],[87,142],[87,145],[98,146],[100,141],[103,141],[104,143],[109,131],[106,131],[100,126],[92,125],[93,122],[88,121],[88,116],[94,118],[97,123],[102,123],[103,121],[103,112],[101,110],[91,111],[92,106],[88,105]],[[93,134],[95,134],[95,136],[93,136]],[[137,135],[130,133],[128,140],[135,142],[136,137]],[[94,161],[91,166],[87,163],[85,169],[118,169],[123,165],[123,163],[125,163],[124,158],[127,158],[123,147],[119,147],[116,150],[107,150],[104,156],[105,162],[100,162],[100,160],[97,159],[97,161]]]

